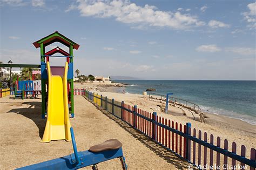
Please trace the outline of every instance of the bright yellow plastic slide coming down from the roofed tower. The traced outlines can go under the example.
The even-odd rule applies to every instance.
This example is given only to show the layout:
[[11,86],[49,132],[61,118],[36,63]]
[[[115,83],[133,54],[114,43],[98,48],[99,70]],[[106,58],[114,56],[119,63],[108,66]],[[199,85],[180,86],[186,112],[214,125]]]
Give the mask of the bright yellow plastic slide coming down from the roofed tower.
[[71,140],[67,76],[68,63],[65,64],[63,76],[53,76],[51,67],[47,62],[48,71],[48,107],[47,122],[44,130],[42,142],[51,140]]

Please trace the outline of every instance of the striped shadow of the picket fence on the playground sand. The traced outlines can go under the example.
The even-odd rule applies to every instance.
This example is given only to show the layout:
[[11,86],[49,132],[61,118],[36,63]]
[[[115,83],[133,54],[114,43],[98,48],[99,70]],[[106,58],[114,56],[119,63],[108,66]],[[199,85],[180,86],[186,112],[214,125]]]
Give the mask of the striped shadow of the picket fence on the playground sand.
[[[84,96],[83,96],[84,97]],[[84,97],[88,100],[86,97]],[[156,141],[152,140],[149,137],[146,137],[143,133],[139,132],[138,130],[134,129],[129,124],[125,123],[125,121],[115,117],[113,114],[107,112],[103,108],[99,107],[95,103],[88,100],[90,103],[95,105],[98,110],[103,112],[107,117],[115,121],[120,127],[124,128],[125,131],[129,132],[134,138],[138,139],[144,146],[149,148],[151,151],[156,153],[159,157],[166,160],[168,163],[174,165],[177,169],[187,169],[188,163],[185,159],[177,157],[176,154],[168,151],[166,148],[160,146]]]

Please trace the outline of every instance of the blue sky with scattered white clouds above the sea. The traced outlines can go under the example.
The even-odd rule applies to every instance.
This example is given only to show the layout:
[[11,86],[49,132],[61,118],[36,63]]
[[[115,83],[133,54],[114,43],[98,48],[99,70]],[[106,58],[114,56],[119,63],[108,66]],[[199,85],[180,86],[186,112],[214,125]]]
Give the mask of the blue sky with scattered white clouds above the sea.
[[[256,80],[255,1],[0,0],[0,8],[4,63],[39,64],[32,43],[57,30],[80,45],[80,74]],[[46,51],[56,46],[67,50],[53,43]]]

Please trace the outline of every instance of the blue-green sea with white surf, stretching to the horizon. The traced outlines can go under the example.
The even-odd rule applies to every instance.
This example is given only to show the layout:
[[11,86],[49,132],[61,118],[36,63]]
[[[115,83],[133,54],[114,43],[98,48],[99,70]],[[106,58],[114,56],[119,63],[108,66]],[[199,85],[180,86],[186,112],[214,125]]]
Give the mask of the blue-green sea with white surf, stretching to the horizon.
[[[125,92],[173,93],[199,105],[203,112],[240,119],[256,125],[256,81],[237,80],[114,80],[127,84]],[[149,92],[148,92],[149,93]]]

